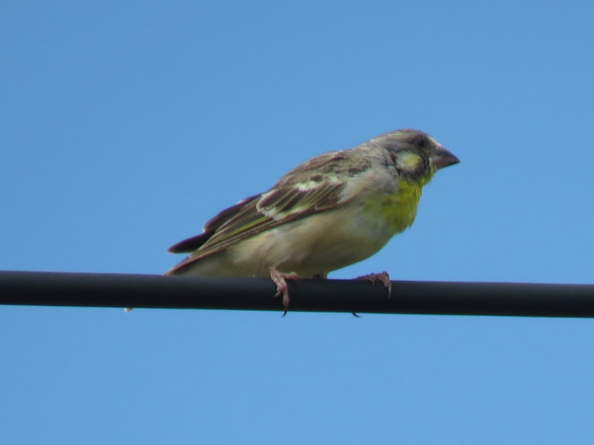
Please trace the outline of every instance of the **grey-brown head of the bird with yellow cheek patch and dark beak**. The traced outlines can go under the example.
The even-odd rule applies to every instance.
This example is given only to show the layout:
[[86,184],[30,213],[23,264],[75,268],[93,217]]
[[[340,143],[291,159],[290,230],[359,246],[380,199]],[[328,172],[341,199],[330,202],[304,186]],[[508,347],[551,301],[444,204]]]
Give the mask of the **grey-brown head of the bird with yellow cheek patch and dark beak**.
[[386,161],[393,164],[399,176],[409,182],[426,184],[435,171],[460,162],[434,138],[418,130],[396,130],[377,136],[370,142],[387,150]]

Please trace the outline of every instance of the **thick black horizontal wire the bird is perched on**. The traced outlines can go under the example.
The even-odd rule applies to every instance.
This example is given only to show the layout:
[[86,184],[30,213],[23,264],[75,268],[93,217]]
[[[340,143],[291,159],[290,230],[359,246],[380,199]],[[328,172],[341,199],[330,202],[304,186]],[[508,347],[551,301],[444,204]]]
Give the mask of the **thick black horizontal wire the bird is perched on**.
[[[0,271],[0,304],[283,311],[266,278]],[[592,284],[298,279],[289,312],[594,317]]]

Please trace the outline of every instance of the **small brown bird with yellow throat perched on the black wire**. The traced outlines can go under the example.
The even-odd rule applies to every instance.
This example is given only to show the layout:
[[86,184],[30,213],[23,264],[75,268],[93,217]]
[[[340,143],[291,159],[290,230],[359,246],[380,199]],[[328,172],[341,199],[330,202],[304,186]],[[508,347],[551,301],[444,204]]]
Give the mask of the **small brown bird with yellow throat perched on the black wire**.
[[[459,162],[412,129],[318,155],[170,247],[190,255],[165,274],[270,276],[286,311],[286,279],[326,278],[373,255],[415,220],[421,189],[435,171]],[[359,278],[380,279],[389,290],[386,272]]]

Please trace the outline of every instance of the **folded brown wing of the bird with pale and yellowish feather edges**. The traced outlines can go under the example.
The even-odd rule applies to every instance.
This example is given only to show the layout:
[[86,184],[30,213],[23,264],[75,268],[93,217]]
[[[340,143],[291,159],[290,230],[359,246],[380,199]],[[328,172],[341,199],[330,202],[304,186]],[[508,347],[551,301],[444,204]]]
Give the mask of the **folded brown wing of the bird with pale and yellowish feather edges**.
[[169,252],[197,249],[172,272],[263,231],[348,202],[350,197],[342,193],[350,177],[347,174],[362,173],[369,164],[361,161],[350,166],[343,153],[330,152],[312,158],[285,174],[267,192],[220,212],[207,222],[203,233],[170,247]]

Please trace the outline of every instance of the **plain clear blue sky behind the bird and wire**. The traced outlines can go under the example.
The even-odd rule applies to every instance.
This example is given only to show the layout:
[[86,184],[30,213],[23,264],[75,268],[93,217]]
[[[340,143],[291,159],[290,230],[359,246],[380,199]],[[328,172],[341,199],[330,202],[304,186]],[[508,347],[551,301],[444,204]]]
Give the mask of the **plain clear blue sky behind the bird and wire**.
[[[320,4],[322,3],[322,4]],[[462,163],[333,272],[594,281],[592,2],[0,7],[0,269],[159,274],[324,151]],[[0,307],[0,441],[587,443],[594,320]]]

